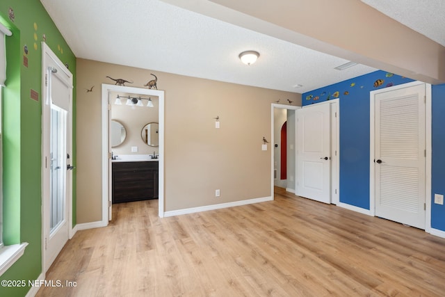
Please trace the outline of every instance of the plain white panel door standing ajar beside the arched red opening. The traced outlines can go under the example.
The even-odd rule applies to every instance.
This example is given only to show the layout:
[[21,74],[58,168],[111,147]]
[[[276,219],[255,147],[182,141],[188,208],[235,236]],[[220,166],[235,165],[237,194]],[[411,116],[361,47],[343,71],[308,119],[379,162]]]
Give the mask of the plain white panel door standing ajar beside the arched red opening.
[[330,203],[330,104],[297,111],[296,194]]

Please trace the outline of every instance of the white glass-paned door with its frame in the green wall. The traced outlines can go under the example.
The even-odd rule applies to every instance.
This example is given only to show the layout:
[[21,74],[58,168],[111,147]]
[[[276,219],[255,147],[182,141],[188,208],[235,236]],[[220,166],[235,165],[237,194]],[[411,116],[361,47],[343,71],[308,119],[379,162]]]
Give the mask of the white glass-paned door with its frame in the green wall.
[[70,236],[72,74],[43,47],[42,261],[46,272]]

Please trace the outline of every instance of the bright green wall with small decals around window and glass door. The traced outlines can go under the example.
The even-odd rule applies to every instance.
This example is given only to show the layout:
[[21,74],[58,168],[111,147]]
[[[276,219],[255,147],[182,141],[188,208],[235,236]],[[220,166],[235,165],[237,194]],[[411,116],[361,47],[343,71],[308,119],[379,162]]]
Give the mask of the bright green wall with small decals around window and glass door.
[[[12,8],[13,13],[10,13]],[[6,38],[7,76],[3,89],[3,240],[28,242],[24,255],[0,280],[35,280],[42,273],[41,127],[42,46],[47,45],[74,74],[73,153],[76,163],[76,58],[38,0],[0,1],[0,22],[13,31]],[[25,46],[26,49],[25,50]],[[27,59],[28,65],[24,65]],[[39,94],[31,99],[31,90]],[[76,225],[76,176],[73,180]],[[0,296],[25,296],[29,287],[0,287]]]

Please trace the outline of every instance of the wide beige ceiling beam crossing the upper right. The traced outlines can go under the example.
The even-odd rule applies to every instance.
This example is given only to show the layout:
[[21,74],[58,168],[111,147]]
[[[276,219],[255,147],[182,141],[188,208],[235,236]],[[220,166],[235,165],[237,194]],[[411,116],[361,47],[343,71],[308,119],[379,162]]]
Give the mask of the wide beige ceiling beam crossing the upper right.
[[445,83],[445,47],[361,1],[163,1],[349,61]]

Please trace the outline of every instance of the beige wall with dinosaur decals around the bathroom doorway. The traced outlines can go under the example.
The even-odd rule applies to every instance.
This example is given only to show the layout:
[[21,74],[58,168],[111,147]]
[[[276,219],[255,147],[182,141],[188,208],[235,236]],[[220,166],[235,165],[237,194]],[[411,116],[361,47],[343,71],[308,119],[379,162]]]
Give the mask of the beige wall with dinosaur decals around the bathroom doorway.
[[[77,223],[102,219],[101,85],[165,90],[165,211],[270,196],[270,104],[301,95],[77,59]],[[86,88],[95,86],[93,92]],[[220,129],[215,118],[220,117]],[[215,190],[221,195],[215,198]]]

